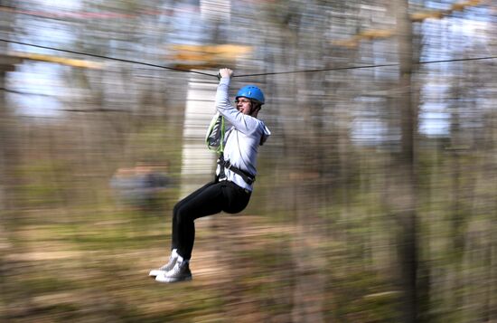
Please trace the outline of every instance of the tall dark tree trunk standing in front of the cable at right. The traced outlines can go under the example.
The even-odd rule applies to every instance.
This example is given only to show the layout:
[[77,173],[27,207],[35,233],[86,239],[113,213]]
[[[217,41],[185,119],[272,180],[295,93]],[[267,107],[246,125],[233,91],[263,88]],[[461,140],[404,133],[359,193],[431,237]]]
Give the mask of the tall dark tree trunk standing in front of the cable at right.
[[395,213],[399,221],[399,285],[403,292],[402,321],[418,322],[423,317],[419,312],[419,272],[416,192],[416,134],[417,134],[417,90],[413,75],[418,48],[413,46],[413,26],[408,15],[408,1],[400,0],[397,6],[397,30],[399,40],[399,109],[401,142],[396,160],[398,176],[397,191],[400,193]]

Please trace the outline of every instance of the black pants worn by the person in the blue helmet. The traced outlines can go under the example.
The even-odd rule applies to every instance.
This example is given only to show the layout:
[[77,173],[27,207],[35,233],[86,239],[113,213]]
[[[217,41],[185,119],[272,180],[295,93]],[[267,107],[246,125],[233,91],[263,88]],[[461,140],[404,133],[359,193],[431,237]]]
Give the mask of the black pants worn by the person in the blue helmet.
[[186,196],[173,209],[171,249],[184,258],[192,257],[196,219],[224,211],[236,214],[248,204],[250,192],[229,181],[211,182]]

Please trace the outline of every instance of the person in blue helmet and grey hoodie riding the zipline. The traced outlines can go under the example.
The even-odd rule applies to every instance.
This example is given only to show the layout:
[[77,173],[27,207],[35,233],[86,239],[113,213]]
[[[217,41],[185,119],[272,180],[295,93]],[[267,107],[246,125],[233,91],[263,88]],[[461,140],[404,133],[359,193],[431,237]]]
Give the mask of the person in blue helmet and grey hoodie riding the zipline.
[[264,122],[257,119],[265,101],[264,93],[257,86],[244,86],[237,93],[236,107],[230,104],[232,75],[230,69],[219,71],[216,109],[232,127],[224,136],[224,151],[220,153],[216,178],[174,206],[171,256],[164,266],[149,274],[157,281],[192,280],[189,263],[195,240],[194,220],[221,211],[237,214],[250,199],[257,174],[258,147],[270,132]]

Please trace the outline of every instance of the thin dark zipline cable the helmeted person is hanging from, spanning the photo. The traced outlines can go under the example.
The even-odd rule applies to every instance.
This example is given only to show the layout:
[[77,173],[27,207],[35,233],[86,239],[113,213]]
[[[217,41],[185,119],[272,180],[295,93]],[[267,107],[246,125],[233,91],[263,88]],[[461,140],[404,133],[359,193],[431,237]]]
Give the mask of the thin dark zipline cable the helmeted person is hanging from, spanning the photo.
[[[17,43],[17,44],[24,45],[24,46],[32,46],[32,47],[36,47],[36,48],[42,48],[42,49],[52,50],[52,51],[57,51],[57,52],[69,52],[69,53],[78,54],[78,55],[82,55],[82,56],[101,58],[101,59],[105,59],[105,60],[109,60],[109,61],[129,62],[129,63],[133,63],[133,64],[156,67],[156,68],[160,68],[160,69],[164,69],[164,70],[190,72],[190,73],[210,76],[210,77],[214,77],[214,78],[218,77],[218,75],[206,73],[203,71],[183,70],[183,69],[179,69],[179,68],[175,68],[175,67],[171,67],[171,66],[158,65],[158,64],[153,64],[153,63],[149,63],[149,62],[132,61],[132,60],[126,60],[126,59],[121,59],[121,58],[116,58],[116,57],[109,57],[109,56],[105,56],[105,55],[91,54],[88,52],[76,52],[76,51],[64,50],[64,49],[60,49],[60,48],[43,46],[43,45],[38,45],[38,44],[33,44],[33,43],[24,43],[24,42],[5,40],[5,39],[0,39],[0,42]],[[441,62],[481,61],[481,60],[493,60],[496,58],[497,58],[497,56],[485,56],[485,57],[474,57],[474,58],[470,57],[470,58],[460,58],[460,59],[450,59],[450,60],[424,61],[424,62],[417,62],[417,64],[431,64],[431,63],[441,63]],[[358,70],[358,69],[371,69],[371,68],[391,67],[391,66],[399,66],[399,63],[346,66],[346,67],[334,67],[334,68],[328,68],[328,69],[299,70],[299,71],[270,71],[270,72],[264,72],[264,73],[254,73],[254,74],[241,74],[241,75],[235,74],[232,77],[233,78],[242,78],[242,77],[253,77],[253,76],[307,73],[307,72],[317,72],[317,71]]]

